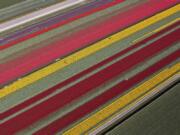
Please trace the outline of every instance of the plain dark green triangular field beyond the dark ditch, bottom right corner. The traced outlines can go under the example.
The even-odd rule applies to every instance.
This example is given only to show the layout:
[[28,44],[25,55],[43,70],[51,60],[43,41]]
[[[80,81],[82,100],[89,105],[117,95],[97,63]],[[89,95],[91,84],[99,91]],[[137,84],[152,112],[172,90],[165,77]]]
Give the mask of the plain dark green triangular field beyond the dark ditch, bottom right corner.
[[180,83],[107,135],[179,135]]

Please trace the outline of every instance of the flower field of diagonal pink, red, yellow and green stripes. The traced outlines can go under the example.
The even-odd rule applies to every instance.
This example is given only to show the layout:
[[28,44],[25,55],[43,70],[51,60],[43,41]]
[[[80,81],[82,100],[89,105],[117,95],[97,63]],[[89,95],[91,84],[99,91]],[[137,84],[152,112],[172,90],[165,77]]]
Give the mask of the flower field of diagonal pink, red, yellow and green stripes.
[[108,134],[179,81],[178,0],[56,1],[0,24],[0,135]]

